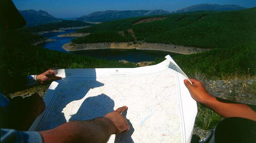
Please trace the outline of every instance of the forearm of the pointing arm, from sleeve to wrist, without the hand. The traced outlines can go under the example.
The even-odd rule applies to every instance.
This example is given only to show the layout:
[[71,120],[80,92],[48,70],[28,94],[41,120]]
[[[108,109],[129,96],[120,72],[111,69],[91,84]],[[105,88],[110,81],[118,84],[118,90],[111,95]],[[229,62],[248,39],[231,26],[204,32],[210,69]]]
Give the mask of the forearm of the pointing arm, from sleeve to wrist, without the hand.
[[71,121],[57,128],[41,131],[44,143],[106,143],[114,132],[113,123],[107,118],[90,121]]

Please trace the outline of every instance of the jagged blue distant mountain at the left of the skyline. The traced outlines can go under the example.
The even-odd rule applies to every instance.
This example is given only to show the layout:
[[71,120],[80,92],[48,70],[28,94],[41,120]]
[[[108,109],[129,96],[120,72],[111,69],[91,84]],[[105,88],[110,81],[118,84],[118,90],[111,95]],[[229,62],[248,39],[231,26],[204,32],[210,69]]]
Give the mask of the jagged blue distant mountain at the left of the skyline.
[[43,10],[19,10],[19,12],[27,21],[26,27],[42,25],[47,23],[55,23],[61,20]]

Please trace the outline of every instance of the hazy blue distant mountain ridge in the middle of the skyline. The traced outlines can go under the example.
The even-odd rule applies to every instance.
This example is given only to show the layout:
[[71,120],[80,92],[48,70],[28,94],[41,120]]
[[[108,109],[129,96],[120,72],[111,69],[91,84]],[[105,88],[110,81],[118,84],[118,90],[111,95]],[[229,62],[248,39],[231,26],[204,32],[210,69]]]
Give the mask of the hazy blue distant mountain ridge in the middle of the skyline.
[[149,16],[149,15],[163,15],[169,14],[170,12],[164,10],[107,10],[107,11],[99,11],[93,12],[89,15],[83,15],[78,17],[75,20],[86,21],[86,22],[106,22],[110,20],[116,19],[125,19],[131,17],[141,17],[141,16]]

